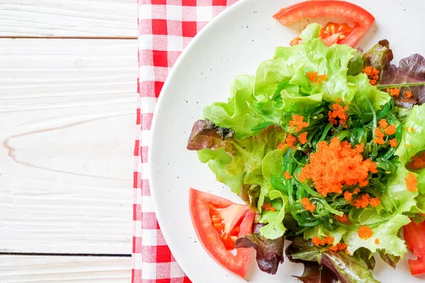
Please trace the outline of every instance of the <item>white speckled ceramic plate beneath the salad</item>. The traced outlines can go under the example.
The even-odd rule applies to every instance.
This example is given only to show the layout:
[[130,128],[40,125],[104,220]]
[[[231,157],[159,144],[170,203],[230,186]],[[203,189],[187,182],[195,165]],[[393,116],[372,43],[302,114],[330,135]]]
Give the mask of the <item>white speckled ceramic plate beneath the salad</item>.
[[[425,1],[351,0],[368,9],[376,21],[358,46],[367,50],[387,38],[395,62],[413,53],[425,54]],[[225,101],[239,74],[255,74],[259,63],[273,57],[276,46],[288,46],[306,23],[283,27],[272,18],[280,8],[296,0],[242,0],[208,24],[181,55],[159,98],[152,125],[149,158],[150,185],[159,225],[183,271],[195,283],[244,282],[210,258],[191,224],[189,187],[242,202],[215,180],[208,166],[198,161],[186,143],[193,122],[203,107]],[[325,20],[325,19],[322,19]],[[303,26],[302,26],[303,25]],[[420,282],[409,273],[407,258],[397,270],[377,258],[373,272],[381,282]],[[302,264],[285,259],[276,275],[258,270],[254,258],[247,279],[253,283],[299,282],[291,275],[302,273]]]

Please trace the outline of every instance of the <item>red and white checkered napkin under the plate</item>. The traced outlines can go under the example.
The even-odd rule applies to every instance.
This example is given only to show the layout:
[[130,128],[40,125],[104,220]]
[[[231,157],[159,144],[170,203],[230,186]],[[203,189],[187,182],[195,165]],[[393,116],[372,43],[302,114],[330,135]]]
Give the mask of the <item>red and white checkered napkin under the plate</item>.
[[166,245],[145,174],[149,131],[166,76],[181,51],[208,21],[237,0],[138,0],[139,66],[133,205],[133,283],[191,282]]

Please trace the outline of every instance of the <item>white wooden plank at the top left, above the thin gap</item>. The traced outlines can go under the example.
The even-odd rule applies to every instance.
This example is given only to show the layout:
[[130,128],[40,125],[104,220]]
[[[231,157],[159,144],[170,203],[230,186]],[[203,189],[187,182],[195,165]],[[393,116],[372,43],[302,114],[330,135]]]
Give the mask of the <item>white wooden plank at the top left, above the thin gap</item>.
[[136,37],[135,0],[1,0],[0,37]]

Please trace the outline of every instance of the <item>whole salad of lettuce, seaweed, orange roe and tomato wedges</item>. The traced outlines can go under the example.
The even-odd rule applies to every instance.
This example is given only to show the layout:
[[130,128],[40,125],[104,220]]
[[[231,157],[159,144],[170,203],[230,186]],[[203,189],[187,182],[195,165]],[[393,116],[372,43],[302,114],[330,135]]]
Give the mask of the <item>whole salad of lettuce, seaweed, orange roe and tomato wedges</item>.
[[307,25],[193,125],[188,149],[246,202],[191,189],[198,238],[240,277],[249,248],[275,274],[285,240],[288,259],[305,265],[302,282],[378,282],[375,257],[395,267],[408,248],[412,275],[425,273],[425,58],[396,66],[387,40],[354,49],[374,18],[344,1],[275,18],[319,15],[356,24]]

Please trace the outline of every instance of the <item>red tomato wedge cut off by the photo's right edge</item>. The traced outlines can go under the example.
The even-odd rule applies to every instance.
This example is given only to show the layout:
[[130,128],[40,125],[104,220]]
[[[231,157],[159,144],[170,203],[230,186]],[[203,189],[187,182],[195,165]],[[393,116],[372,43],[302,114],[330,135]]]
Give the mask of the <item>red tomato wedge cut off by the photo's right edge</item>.
[[412,275],[425,274],[425,222],[410,222],[403,227],[407,248],[413,251],[417,260],[409,260]]

